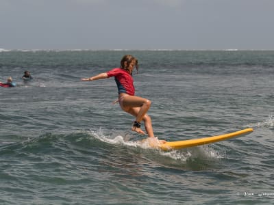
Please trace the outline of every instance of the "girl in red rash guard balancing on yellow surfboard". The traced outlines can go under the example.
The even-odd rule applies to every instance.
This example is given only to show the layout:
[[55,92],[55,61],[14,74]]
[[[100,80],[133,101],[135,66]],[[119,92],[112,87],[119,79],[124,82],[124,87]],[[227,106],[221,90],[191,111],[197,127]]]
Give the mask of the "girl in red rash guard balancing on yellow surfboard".
[[83,78],[82,81],[95,81],[114,77],[119,93],[119,104],[123,111],[136,117],[132,124],[132,131],[145,134],[141,129],[141,122],[145,123],[145,130],[149,137],[154,137],[151,118],[147,111],[151,106],[151,101],[146,98],[135,96],[134,79],[132,72],[136,68],[138,72],[138,59],[132,55],[125,55],[121,59],[121,67],[113,68],[108,72],[103,72],[90,78]]

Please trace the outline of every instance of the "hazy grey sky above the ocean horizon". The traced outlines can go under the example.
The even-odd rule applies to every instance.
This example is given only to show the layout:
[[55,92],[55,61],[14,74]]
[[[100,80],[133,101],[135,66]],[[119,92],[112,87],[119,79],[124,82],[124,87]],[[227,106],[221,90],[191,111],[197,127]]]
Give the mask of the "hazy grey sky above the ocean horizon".
[[0,0],[0,49],[274,50],[274,0]]

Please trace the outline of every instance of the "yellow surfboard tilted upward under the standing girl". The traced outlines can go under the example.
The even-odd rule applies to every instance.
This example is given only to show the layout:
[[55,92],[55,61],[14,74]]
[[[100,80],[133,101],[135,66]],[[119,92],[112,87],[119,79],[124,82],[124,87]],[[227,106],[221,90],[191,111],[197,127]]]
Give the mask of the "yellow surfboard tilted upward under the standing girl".
[[[208,143],[215,143],[217,141],[223,141],[225,139],[230,139],[232,137],[239,137],[240,135],[247,135],[253,132],[253,128],[246,128],[234,133],[227,133],[223,135],[217,135],[212,137],[203,137],[200,139],[188,139],[183,141],[168,141],[166,143],[158,144],[158,148],[162,150],[179,150],[182,148],[189,148],[194,146],[201,146]],[[155,147],[151,145],[152,147]]]

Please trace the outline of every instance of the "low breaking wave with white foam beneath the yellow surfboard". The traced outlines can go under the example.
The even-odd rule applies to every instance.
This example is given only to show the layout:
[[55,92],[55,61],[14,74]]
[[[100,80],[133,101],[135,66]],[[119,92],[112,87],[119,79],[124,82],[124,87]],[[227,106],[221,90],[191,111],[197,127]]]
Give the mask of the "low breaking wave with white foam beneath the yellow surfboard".
[[[14,158],[21,156],[31,156],[33,158],[34,154],[38,154],[39,157],[48,154],[71,158],[88,154],[88,156],[96,158],[108,156],[108,161],[113,161],[125,157],[125,153],[128,156],[136,156],[161,166],[184,167],[184,169],[205,169],[201,166],[208,165],[209,162],[219,161],[219,159],[225,157],[225,154],[214,150],[211,146],[162,151],[151,148],[147,143],[127,141],[126,137],[121,135],[114,138],[106,136],[101,130],[79,131],[69,134],[45,133],[21,142],[2,143],[0,146],[1,156],[8,154]],[[197,168],[197,164],[199,164],[199,168]],[[208,166],[206,167],[208,168]]]

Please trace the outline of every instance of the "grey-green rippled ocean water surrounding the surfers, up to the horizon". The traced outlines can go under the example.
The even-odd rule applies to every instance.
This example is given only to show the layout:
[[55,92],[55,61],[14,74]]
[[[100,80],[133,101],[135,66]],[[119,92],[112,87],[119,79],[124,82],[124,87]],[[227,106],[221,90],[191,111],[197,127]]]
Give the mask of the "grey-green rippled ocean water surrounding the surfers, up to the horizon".
[[[253,133],[140,145],[114,79],[80,80],[125,54],[158,139]],[[0,204],[273,204],[274,51],[2,51],[0,70]]]

